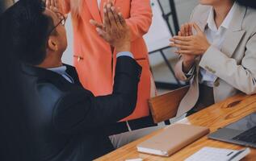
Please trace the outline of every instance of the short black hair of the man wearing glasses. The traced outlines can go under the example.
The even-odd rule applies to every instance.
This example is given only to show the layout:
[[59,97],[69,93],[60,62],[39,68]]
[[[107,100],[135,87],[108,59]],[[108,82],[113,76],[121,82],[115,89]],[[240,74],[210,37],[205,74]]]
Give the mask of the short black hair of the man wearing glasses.
[[44,10],[41,0],[20,0],[6,11],[8,48],[25,64],[38,65],[45,59],[53,20]]

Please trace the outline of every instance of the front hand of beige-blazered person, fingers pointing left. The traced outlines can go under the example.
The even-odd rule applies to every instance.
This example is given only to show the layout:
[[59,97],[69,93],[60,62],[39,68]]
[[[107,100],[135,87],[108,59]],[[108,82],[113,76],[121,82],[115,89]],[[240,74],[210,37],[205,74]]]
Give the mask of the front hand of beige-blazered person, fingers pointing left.
[[208,47],[211,44],[208,42],[206,35],[201,31],[199,26],[196,23],[192,23],[192,26],[195,28],[197,32],[196,35],[190,36],[174,36],[171,39],[171,47],[178,47],[178,51],[176,53],[179,54],[188,54],[193,56],[202,56],[204,52],[208,50]]

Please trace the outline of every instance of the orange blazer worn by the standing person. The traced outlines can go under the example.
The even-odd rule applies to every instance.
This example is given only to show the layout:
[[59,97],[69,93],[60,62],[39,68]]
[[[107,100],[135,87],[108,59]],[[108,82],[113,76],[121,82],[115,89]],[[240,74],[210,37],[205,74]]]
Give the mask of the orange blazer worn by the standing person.
[[[70,3],[75,0],[61,0],[64,13],[70,12]],[[97,0],[84,0],[82,12],[78,19],[73,19],[74,36],[74,66],[82,85],[89,89],[95,96],[112,93],[115,69],[115,52],[111,52],[111,46],[106,43],[95,31],[89,21],[94,19],[103,22],[103,3],[99,6]],[[152,22],[152,10],[149,0],[114,0],[115,6],[120,7],[128,26],[132,32],[132,54],[142,66],[141,82],[138,90],[136,109],[132,115],[124,120],[132,120],[149,116],[148,99],[151,84],[151,72],[149,70],[149,54],[144,39]],[[72,10],[71,10],[72,14]],[[75,21],[75,22],[74,22]]]

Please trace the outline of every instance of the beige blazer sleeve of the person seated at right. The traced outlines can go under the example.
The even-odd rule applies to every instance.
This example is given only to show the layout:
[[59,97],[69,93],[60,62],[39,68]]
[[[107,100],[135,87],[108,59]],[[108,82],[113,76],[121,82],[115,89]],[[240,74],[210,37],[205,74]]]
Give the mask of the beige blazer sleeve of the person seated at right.
[[[202,57],[199,66],[229,83],[246,94],[256,93],[256,33],[246,43],[245,56],[241,64],[216,47],[209,47]],[[211,71],[209,71],[211,69]]]

